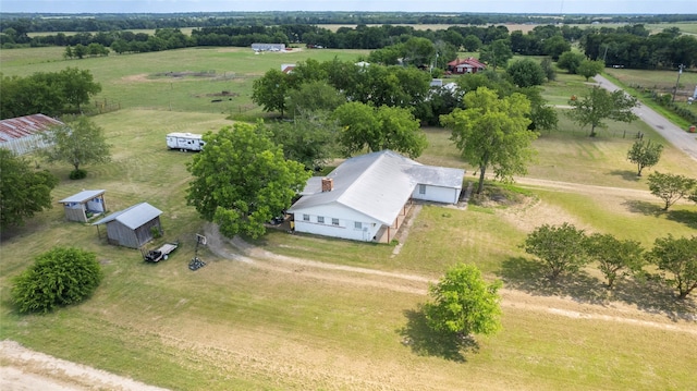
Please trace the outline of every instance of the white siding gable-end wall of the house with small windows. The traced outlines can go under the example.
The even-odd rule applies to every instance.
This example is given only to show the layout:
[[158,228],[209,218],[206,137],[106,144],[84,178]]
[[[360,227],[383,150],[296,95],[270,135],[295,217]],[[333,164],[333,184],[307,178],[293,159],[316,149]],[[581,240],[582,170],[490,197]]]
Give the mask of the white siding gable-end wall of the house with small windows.
[[[309,221],[304,219],[308,216]],[[318,222],[323,218],[323,222]],[[337,205],[321,206],[306,210],[294,210],[295,231],[313,233],[332,237],[348,239],[353,241],[370,242],[382,223],[363,213]],[[333,219],[338,219],[335,225]],[[356,227],[360,223],[360,228]]]

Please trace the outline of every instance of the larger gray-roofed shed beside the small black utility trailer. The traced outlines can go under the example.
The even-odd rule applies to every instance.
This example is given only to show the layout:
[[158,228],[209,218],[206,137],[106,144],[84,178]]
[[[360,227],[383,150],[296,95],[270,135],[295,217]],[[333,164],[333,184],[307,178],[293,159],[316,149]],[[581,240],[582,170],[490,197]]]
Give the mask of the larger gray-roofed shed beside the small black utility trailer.
[[[131,248],[140,248],[144,244],[152,240],[154,231],[162,232],[160,225],[160,215],[162,211],[148,203],[140,203],[130,208],[113,212],[103,219],[96,221],[93,225],[107,225],[107,241]],[[101,236],[101,233],[99,233]]]

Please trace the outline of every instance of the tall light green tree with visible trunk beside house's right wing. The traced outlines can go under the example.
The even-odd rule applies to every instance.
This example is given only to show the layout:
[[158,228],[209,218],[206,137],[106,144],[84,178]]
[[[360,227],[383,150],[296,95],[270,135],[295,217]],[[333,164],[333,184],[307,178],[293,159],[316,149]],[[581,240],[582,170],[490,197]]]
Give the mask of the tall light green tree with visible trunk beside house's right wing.
[[527,129],[529,100],[517,93],[500,99],[491,89],[479,87],[465,94],[464,106],[465,110],[441,117],[441,123],[452,130],[451,139],[462,157],[479,169],[477,194],[484,190],[489,167],[503,181],[525,174],[534,155],[531,143],[538,136]]

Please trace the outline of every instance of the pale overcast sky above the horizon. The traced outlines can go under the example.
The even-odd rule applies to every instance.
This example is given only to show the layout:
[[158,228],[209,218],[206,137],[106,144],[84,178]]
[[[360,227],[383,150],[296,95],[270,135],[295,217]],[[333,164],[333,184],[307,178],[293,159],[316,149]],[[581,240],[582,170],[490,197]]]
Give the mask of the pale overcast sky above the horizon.
[[405,11],[548,14],[697,13],[695,0],[0,0],[0,12]]

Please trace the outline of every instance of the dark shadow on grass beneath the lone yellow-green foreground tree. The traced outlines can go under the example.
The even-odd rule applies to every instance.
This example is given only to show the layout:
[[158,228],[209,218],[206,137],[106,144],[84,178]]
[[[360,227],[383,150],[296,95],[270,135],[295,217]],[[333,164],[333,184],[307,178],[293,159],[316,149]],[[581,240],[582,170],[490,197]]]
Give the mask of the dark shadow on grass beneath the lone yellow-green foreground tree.
[[426,315],[419,306],[417,309],[404,311],[406,326],[399,329],[402,343],[419,356],[436,356],[449,361],[464,363],[465,353],[476,353],[479,344],[472,338],[462,338],[454,333],[433,331],[426,321]]

